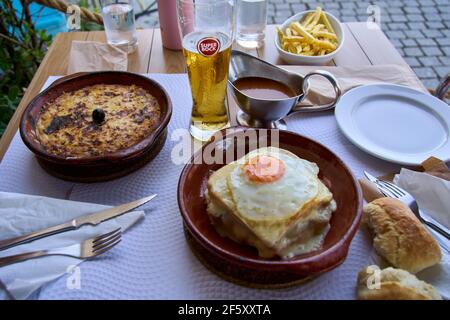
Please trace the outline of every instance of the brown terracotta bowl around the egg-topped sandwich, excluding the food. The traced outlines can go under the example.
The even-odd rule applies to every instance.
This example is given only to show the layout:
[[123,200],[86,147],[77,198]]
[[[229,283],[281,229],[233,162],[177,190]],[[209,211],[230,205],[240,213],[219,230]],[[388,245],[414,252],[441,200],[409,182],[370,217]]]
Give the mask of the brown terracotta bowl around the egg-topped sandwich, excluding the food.
[[[257,136],[271,131],[235,127],[222,130],[222,136],[203,146],[195,155],[211,150],[211,144],[222,146],[215,152],[225,153],[224,141],[232,141],[243,132]],[[248,141],[247,141],[248,142]],[[231,148],[236,152],[236,143]],[[178,183],[178,205],[184,220],[185,235],[195,255],[210,270],[227,280],[251,287],[284,287],[317,276],[340,265],[346,258],[350,242],[361,218],[362,196],[357,180],[347,166],[323,145],[289,131],[279,131],[279,147],[317,163],[319,177],[333,193],[337,210],[333,213],[322,249],[289,260],[263,259],[256,249],[220,236],[206,212],[205,189],[209,176],[224,164],[187,164]],[[247,143],[248,148],[248,143]],[[251,150],[246,150],[249,152]],[[209,152],[209,151],[207,151]],[[216,155],[213,153],[213,155]],[[192,160],[194,160],[194,158]],[[224,157],[225,158],[225,157]]]

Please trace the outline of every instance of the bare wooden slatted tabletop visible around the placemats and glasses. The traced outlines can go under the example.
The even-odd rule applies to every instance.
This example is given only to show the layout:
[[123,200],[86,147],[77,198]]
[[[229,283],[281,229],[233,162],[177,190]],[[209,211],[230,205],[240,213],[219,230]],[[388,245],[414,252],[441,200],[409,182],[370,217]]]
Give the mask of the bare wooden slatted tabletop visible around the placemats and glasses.
[[[330,63],[336,66],[367,66],[378,64],[406,65],[407,63],[384,33],[378,28],[368,28],[366,23],[345,23],[345,43],[336,58]],[[274,45],[276,31],[274,25],[266,28],[265,46],[254,50],[244,50],[266,61],[281,65]],[[36,96],[51,75],[66,75],[69,52],[73,40],[106,42],[103,31],[59,33],[39,69],[28,86],[25,95],[0,140],[0,160],[17,132],[20,116],[24,108]],[[138,30],[139,46],[128,57],[128,71],[136,73],[183,73],[184,58],[180,51],[162,47],[159,29]],[[241,48],[239,48],[241,49]],[[241,49],[242,50],[242,49]]]

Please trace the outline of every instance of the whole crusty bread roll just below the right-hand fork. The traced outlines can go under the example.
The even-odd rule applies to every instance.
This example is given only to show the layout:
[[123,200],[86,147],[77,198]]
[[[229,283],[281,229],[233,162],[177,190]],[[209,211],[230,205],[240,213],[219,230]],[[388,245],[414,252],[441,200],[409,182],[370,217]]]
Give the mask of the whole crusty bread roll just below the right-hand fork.
[[401,201],[376,199],[365,206],[364,215],[375,250],[394,267],[416,273],[441,260],[436,240]]

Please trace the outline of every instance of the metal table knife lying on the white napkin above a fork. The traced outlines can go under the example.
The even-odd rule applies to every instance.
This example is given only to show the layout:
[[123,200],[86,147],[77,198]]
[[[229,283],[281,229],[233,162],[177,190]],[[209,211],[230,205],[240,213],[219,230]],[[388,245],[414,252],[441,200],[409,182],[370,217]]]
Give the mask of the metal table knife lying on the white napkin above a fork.
[[128,211],[131,211],[139,206],[142,206],[143,204],[149,202],[154,197],[156,197],[156,194],[153,194],[151,196],[134,200],[125,204],[122,204],[120,206],[94,212],[91,214],[88,214],[86,216],[78,217],[73,220],[70,220],[68,222],[58,224],[56,226],[52,226],[49,228],[45,228],[39,231],[35,231],[23,236],[11,238],[11,239],[5,239],[0,240],[0,251],[9,249],[11,247],[17,246],[19,244],[28,243],[37,239],[41,239],[53,234],[66,232],[70,230],[76,230],[84,225],[93,225],[96,226],[99,223],[102,223],[103,221],[118,217],[124,213],[127,213]]

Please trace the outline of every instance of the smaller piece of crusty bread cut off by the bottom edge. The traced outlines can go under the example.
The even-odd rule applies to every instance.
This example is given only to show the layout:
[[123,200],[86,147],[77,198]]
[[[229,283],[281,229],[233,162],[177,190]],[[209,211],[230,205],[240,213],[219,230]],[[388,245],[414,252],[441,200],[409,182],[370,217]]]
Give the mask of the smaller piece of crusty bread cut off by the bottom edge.
[[432,285],[408,271],[391,267],[380,270],[377,266],[369,266],[361,270],[357,291],[360,300],[442,300]]

